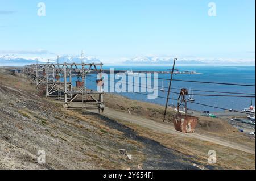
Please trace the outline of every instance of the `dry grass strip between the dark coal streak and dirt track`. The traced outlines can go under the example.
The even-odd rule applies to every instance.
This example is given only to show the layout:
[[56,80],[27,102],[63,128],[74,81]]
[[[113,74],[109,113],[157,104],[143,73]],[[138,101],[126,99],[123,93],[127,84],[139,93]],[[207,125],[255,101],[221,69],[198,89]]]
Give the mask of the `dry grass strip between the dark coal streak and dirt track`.
[[190,155],[196,162],[200,162],[204,165],[208,165],[208,151],[215,150],[217,153],[217,163],[214,166],[222,167],[223,169],[255,170],[255,155],[253,154],[212,144],[210,142],[152,131],[152,129],[124,121],[120,122],[134,129],[140,136],[158,141],[167,148],[177,150],[185,155]]

